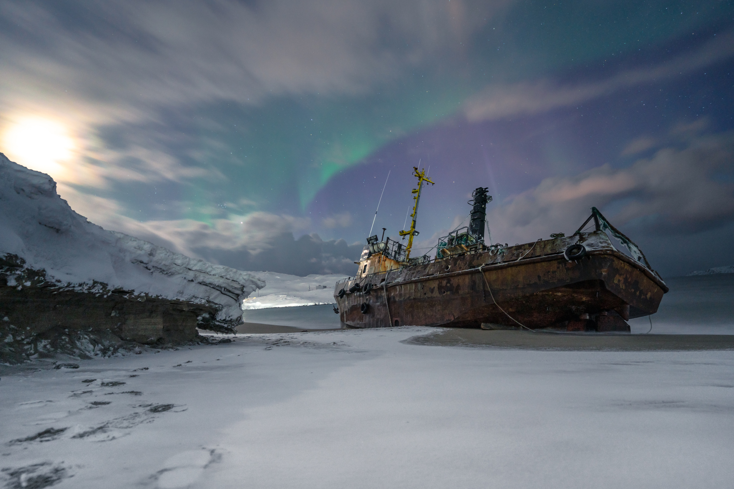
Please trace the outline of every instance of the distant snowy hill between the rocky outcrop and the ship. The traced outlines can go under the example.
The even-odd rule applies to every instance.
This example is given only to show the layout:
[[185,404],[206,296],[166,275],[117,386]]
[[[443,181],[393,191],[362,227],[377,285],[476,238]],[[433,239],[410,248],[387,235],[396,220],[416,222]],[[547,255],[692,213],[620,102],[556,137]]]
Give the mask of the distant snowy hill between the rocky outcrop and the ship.
[[334,285],[346,275],[297,276],[275,272],[251,272],[266,282],[266,287],[245,299],[242,309],[315,306],[335,304]]

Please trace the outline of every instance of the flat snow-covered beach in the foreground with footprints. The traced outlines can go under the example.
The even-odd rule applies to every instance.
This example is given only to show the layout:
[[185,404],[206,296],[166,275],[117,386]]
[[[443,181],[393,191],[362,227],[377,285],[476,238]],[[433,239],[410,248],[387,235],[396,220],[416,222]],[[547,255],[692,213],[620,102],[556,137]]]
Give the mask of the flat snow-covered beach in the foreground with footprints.
[[432,331],[239,336],[5,372],[0,485],[732,487],[731,351],[403,342]]

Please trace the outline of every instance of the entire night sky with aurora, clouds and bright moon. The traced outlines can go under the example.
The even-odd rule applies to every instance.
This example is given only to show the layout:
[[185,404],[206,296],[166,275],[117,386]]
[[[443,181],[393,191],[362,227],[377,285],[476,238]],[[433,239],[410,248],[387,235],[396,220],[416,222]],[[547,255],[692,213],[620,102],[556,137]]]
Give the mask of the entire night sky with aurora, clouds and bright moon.
[[421,166],[414,256],[484,186],[493,243],[595,206],[663,276],[734,265],[731,1],[2,0],[0,45],[0,152],[191,256],[354,273]]

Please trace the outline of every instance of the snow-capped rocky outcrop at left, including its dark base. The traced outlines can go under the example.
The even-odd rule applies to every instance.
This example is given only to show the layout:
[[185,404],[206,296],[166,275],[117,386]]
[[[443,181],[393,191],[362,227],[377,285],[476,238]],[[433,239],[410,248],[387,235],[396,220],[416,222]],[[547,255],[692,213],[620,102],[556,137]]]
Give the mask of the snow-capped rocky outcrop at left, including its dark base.
[[90,356],[233,331],[265,282],[103,229],[47,174],[0,153],[0,363]]

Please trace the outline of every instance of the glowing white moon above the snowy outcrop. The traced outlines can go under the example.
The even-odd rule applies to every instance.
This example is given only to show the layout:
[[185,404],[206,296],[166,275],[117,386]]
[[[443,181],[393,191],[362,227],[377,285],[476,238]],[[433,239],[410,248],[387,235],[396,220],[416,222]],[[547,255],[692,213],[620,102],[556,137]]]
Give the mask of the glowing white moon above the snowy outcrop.
[[38,172],[63,180],[64,163],[73,156],[76,144],[64,125],[40,117],[27,117],[10,125],[3,134],[7,157]]

